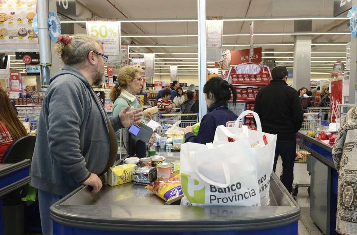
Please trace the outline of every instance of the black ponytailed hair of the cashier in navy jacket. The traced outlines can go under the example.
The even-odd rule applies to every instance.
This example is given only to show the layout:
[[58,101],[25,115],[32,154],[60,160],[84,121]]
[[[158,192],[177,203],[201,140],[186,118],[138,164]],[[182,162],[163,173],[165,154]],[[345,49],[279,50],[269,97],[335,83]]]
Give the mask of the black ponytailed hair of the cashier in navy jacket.
[[207,94],[207,98],[214,100],[215,103],[227,103],[231,95],[233,104],[235,105],[237,102],[236,89],[221,77],[212,77],[208,80],[203,86],[203,93]]

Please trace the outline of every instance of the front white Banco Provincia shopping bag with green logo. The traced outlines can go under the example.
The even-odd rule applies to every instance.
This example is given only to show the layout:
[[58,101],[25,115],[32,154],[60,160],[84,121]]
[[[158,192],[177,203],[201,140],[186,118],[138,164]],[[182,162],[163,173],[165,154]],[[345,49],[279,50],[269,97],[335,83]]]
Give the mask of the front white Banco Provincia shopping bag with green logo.
[[182,191],[192,205],[260,205],[255,161],[246,151],[250,143],[241,142],[181,145]]

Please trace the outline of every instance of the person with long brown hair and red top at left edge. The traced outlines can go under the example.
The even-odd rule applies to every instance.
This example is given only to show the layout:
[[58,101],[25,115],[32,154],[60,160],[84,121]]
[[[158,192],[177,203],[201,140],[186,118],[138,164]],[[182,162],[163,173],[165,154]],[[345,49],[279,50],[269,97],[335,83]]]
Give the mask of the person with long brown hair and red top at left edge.
[[17,139],[27,136],[24,125],[19,121],[12,108],[9,97],[0,89],[0,163],[6,150]]

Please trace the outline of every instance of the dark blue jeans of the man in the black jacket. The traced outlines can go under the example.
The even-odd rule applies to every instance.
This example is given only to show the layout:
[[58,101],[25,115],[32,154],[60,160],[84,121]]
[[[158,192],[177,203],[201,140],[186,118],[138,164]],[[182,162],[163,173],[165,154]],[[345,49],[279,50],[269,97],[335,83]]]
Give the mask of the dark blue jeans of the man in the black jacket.
[[283,174],[281,182],[285,188],[291,193],[292,182],[294,180],[294,164],[296,154],[296,140],[294,141],[277,141],[275,149],[275,159],[273,171],[275,172],[276,163],[279,155],[283,162]]

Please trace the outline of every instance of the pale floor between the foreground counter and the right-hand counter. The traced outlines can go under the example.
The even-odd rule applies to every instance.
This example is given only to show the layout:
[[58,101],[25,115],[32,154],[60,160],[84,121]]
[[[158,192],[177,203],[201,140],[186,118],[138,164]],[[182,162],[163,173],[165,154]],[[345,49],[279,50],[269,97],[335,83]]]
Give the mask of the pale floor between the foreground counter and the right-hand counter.
[[[279,176],[282,171],[281,158],[276,166],[276,174]],[[294,183],[309,184],[310,176],[306,170],[306,164],[296,163],[294,166]],[[297,204],[301,208],[301,219],[298,221],[299,235],[322,235],[320,229],[312,222],[310,218],[310,196],[307,188],[299,188],[296,196]]]

